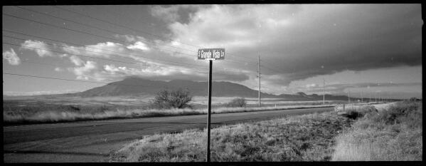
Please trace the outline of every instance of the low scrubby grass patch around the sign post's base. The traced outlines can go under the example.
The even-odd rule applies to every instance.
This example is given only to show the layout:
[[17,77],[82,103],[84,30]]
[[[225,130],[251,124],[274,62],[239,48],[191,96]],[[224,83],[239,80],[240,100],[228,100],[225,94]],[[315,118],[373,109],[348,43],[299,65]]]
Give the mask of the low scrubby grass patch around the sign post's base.
[[[211,160],[327,161],[334,136],[351,121],[336,113],[314,113],[211,130]],[[137,140],[111,155],[118,162],[206,161],[206,129],[157,134]]]

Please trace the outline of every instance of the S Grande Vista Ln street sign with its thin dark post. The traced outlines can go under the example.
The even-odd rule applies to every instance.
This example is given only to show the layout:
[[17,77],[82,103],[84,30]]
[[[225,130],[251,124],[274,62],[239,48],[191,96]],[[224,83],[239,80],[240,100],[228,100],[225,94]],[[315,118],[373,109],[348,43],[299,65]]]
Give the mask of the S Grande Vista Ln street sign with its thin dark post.
[[225,48],[203,48],[198,49],[198,59],[208,60],[210,63],[208,71],[208,106],[207,106],[207,155],[206,160],[210,162],[210,124],[211,124],[211,77],[213,60],[225,59]]

